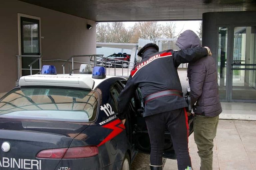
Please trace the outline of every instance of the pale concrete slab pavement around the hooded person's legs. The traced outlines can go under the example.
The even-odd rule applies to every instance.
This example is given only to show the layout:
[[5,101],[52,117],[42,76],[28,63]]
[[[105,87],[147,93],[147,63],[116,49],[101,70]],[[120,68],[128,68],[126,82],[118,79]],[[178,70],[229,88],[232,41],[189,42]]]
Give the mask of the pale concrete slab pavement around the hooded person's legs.
[[[256,170],[256,121],[219,120],[214,139],[213,170]],[[193,134],[189,152],[194,170],[200,169],[200,158]],[[177,170],[177,161],[167,159],[164,170]]]

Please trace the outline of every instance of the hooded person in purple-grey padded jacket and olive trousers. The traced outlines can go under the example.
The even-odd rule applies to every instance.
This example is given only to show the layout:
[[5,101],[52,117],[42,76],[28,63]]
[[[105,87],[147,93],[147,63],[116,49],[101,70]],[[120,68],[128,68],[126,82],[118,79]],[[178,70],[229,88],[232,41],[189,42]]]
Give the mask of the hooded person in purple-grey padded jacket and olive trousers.
[[[176,45],[183,50],[201,46],[199,37],[191,30],[180,34]],[[201,170],[212,170],[213,139],[216,136],[219,114],[222,112],[214,58],[207,56],[190,62],[187,76],[195,113],[194,138],[201,158]]]

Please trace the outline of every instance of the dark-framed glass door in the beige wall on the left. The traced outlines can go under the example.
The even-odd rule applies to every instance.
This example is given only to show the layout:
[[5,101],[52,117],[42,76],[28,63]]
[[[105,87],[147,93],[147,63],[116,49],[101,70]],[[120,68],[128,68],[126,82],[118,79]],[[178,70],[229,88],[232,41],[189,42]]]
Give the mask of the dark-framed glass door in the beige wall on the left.
[[[22,55],[40,55],[40,26],[39,20],[20,17],[21,25],[21,54]],[[22,57],[22,68],[29,69],[28,66],[37,57]],[[32,69],[39,69],[39,61],[32,65]],[[36,74],[38,70],[33,70]],[[30,75],[30,70],[22,70],[22,76]]]

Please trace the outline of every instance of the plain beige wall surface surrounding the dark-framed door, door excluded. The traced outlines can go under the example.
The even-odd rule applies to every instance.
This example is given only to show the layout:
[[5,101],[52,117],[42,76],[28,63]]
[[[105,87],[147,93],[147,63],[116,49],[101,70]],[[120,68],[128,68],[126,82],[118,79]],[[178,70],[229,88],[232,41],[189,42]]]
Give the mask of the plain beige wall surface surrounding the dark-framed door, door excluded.
[[[44,37],[41,39],[43,60],[96,54],[96,23],[94,21],[17,0],[1,1],[0,93],[15,87],[17,80],[15,55],[19,54],[18,13],[41,18],[41,36]],[[91,30],[86,28],[87,23],[93,26]],[[57,66],[57,73],[62,73],[61,64]]]

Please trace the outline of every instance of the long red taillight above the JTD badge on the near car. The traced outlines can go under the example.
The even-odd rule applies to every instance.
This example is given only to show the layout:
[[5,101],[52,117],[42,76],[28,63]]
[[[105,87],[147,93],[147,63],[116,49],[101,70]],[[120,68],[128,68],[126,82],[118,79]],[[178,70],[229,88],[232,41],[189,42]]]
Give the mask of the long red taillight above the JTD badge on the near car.
[[99,153],[97,146],[86,146],[76,148],[48,149],[37,154],[37,158],[49,159],[74,159],[88,158]]

